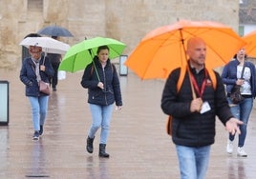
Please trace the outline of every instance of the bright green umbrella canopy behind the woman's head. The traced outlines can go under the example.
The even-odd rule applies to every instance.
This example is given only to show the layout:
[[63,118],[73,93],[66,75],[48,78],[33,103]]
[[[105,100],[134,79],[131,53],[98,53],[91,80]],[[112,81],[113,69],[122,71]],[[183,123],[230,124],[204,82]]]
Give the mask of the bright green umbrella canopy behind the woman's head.
[[93,61],[97,48],[105,45],[109,48],[109,59],[118,57],[126,47],[122,42],[112,38],[95,37],[83,40],[67,51],[58,70],[70,72],[84,70]]

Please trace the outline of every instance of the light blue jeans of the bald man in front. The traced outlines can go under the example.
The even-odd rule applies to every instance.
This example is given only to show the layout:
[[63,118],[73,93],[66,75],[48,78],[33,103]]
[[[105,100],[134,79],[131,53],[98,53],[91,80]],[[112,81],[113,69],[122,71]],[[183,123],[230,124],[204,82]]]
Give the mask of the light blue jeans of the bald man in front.
[[193,148],[176,145],[181,179],[204,179],[208,169],[210,146]]

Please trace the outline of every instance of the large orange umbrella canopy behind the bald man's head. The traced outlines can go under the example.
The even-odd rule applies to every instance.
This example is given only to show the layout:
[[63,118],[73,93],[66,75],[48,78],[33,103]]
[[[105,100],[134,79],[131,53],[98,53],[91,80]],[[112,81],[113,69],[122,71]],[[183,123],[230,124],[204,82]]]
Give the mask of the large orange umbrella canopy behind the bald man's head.
[[191,37],[206,43],[207,68],[226,64],[245,42],[231,28],[210,21],[179,21],[149,32],[130,54],[125,65],[141,79],[165,79],[171,70],[187,64],[185,47]]

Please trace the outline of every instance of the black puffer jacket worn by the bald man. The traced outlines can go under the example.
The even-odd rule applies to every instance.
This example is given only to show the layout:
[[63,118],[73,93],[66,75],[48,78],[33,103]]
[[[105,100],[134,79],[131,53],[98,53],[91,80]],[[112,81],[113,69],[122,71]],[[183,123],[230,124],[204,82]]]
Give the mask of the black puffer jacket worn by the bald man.
[[[204,70],[198,74],[191,70],[199,88],[204,79]],[[192,90],[186,71],[180,92],[177,91],[177,82],[181,69],[173,70],[169,75],[161,97],[161,109],[164,113],[173,116],[172,139],[177,145],[187,147],[203,147],[214,143],[215,137],[215,117],[220,118],[225,125],[226,121],[233,117],[226,101],[224,84],[220,75],[215,72],[217,87],[213,88],[209,83],[203,92],[203,102],[207,101],[211,110],[201,114],[190,112],[192,101]],[[208,77],[208,80],[210,78]]]

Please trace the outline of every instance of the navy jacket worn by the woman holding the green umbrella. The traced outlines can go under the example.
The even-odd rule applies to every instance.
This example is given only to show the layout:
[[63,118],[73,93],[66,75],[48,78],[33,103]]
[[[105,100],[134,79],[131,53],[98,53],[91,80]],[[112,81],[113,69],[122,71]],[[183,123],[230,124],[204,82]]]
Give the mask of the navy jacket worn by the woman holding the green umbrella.
[[[97,56],[94,58],[94,63],[96,66],[91,63],[85,68],[81,80],[81,86],[88,89],[88,103],[107,106],[116,101],[117,106],[122,106],[120,84],[116,67],[111,64],[108,59],[105,68],[102,69]],[[97,87],[99,81],[104,84],[104,90]]]

